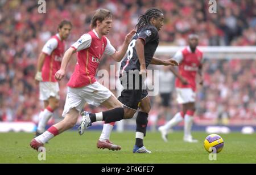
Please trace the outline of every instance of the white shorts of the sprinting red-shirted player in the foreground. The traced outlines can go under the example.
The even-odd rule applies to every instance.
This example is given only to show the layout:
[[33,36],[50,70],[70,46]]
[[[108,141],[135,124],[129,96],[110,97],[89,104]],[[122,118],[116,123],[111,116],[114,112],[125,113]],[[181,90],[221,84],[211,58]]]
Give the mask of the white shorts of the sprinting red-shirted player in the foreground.
[[110,96],[114,96],[113,93],[98,82],[81,88],[68,87],[62,117],[65,117],[65,114],[67,114],[72,108],[76,108],[79,113],[81,113],[82,109],[84,109],[85,103],[99,106],[104,101],[108,100]]

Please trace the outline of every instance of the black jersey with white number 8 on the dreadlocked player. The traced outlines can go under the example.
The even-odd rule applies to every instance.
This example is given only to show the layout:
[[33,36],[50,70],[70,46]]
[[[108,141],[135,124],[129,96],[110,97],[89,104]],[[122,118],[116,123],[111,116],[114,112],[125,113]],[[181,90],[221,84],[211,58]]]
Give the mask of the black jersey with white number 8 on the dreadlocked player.
[[140,70],[141,64],[139,63],[139,58],[135,49],[135,42],[137,39],[144,40],[144,58],[147,68],[158,47],[158,29],[156,29],[154,25],[146,25],[138,34],[133,36],[127,49],[127,57],[123,59],[121,63],[121,74],[123,71]]

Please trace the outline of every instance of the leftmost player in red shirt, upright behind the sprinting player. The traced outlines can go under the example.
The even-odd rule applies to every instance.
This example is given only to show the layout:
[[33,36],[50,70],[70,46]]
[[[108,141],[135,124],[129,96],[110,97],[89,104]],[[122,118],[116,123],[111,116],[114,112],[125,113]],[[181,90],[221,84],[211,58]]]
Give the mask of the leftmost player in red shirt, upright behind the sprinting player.
[[63,20],[58,27],[58,33],[52,36],[44,45],[38,58],[36,84],[39,84],[40,100],[44,101],[44,110],[39,114],[36,136],[45,131],[45,127],[52,113],[59,107],[59,84],[54,78],[60,69],[61,59],[65,51],[65,40],[72,29],[68,20]]

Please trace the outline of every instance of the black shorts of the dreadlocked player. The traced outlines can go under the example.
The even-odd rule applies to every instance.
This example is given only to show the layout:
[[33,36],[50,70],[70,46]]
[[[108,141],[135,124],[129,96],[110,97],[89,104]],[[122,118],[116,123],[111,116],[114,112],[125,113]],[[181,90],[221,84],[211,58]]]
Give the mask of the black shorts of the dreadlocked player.
[[[138,75],[138,72],[135,73]],[[142,77],[135,78],[135,74],[123,74],[119,76],[123,91],[118,100],[125,106],[137,110],[142,99],[147,97],[147,90],[143,88]],[[133,84],[131,84],[133,82]],[[130,87],[129,87],[130,85]]]

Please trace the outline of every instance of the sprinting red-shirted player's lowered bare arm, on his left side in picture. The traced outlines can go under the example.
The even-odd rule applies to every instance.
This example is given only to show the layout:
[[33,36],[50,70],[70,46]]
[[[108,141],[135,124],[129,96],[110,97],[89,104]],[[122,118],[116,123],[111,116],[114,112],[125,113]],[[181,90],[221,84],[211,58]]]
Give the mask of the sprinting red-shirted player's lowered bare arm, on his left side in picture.
[[74,54],[75,52],[76,50],[74,48],[69,48],[65,52],[63,60],[61,61],[60,70],[58,70],[55,74],[56,80],[61,80],[65,76],[65,70],[67,68],[68,62],[70,61],[72,54]]

